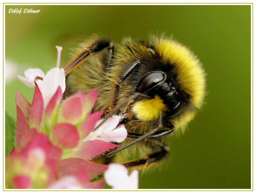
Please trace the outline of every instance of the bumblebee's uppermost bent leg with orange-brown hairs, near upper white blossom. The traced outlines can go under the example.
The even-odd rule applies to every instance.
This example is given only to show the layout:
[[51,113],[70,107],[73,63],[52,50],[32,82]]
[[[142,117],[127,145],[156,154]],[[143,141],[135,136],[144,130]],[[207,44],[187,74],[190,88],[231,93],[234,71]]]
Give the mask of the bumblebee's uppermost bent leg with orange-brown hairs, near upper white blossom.
[[[87,60],[88,56],[91,53],[99,52],[106,47],[109,47],[109,53],[111,53],[110,55],[112,57],[113,44],[106,38],[99,38],[99,39],[95,40],[94,42],[92,42],[91,45],[86,46],[83,49],[77,49],[77,52],[78,52],[77,56],[70,59],[64,67],[65,75],[67,76],[75,68],[77,68],[81,63],[83,63],[85,60]],[[107,63],[110,63],[109,58],[108,58]]]

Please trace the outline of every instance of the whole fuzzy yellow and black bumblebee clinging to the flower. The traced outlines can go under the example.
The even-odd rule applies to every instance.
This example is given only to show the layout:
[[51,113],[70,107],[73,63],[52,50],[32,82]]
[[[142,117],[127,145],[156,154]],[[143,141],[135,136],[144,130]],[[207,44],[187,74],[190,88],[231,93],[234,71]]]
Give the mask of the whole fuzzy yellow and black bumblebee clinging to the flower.
[[164,36],[120,44],[94,36],[74,49],[64,70],[64,96],[97,89],[93,111],[118,115],[128,131],[120,148],[101,157],[106,163],[141,169],[164,161],[170,134],[183,133],[204,104],[202,64],[187,47]]

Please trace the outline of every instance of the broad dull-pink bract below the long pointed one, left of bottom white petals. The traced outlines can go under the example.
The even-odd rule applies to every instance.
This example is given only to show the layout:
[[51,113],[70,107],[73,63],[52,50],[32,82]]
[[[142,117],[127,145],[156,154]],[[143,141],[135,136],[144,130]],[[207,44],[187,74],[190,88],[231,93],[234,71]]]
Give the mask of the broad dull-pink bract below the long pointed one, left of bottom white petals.
[[[70,168],[70,166],[72,166],[72,168]],[[89,178],[95,178],[102,174],[107,168],[108,165],[106,164],[98,164],[81,158],[68,158],[58,163],[58,176],[76,175],[81,169],[85,169]]]

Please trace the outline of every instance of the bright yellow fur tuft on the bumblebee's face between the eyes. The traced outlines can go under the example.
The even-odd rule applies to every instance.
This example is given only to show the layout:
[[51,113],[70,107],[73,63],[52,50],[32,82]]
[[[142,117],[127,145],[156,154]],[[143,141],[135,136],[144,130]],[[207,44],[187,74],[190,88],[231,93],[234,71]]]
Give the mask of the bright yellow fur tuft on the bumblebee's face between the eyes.
[[160,112],[166,110],[166,105],[158,96],[153,99],[140,100],[132,107],[132,111],[135,113],[137,118],[142,121],[158,119]]

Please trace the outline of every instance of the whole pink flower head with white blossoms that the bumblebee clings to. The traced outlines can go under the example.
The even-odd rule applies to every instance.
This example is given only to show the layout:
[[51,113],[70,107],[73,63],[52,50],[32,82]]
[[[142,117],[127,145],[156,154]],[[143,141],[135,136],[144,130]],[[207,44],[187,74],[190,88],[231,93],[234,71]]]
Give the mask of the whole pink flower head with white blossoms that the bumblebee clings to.
[[92,113],[96,90],[86,95],[80,90],[62,100],[65,74],[59,69],[61,48],[57,49],[57,68],[47,75],[40,69],[25,71],[27,78],[18,75],[35,87],[35,93],[31,104],[20,91],[16,93],[15,149],[6,158],[6,188],[100,189],[105,181],[91,180],[108,165],[91,160],[119,147],[111,142],[127,137],[118,116],[100,120],[104,111]]

